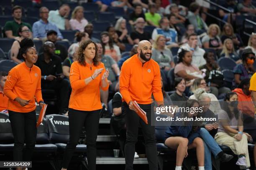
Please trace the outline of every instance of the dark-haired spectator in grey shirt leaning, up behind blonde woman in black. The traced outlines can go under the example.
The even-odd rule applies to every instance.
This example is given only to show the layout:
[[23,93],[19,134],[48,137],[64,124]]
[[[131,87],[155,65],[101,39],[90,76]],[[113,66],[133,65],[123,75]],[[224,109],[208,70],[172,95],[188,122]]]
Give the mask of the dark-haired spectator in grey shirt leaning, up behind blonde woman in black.
[[205,21],[200,17],[199,11],[200,6],[197,4],[197,2],[191,3],[189,6],[187,19],[189,20],[190,24],[194,25],[194,27],[196,28],[196,32],[198,34],[201,34],[202,32],[208,30],[208,27]]

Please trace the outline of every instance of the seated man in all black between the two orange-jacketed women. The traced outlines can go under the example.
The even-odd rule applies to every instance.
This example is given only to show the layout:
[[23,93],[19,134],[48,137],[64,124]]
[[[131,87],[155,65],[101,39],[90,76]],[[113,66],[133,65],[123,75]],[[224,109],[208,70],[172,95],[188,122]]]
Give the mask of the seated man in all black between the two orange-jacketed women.
[[43,52],[38,55],[36,65],[41,69],[42,89],[54,90],[59,97],[59,113],[67,112],[69,103],[69,81],[64,79],[61,67],[61,58],[54,54],[53,42],[46,41]]

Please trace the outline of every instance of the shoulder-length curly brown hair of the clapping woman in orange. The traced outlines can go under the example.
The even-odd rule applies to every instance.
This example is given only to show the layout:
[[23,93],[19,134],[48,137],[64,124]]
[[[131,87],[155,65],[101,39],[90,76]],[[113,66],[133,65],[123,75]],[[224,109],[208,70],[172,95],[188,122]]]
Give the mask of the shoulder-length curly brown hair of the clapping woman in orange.
[[93,65],[97,66],[100,63],[100,59],[99,59],[99,55],[98,55],[98,47],[97,47],[96,43],[92,40],[85,40],[79,46],[78,51],[77,51],[77,61],[79,62],[80,65],[84,65],[84,66],[86,65],[84,50],[90,43],[93,43],[95,45],[95,57],[92,60]]

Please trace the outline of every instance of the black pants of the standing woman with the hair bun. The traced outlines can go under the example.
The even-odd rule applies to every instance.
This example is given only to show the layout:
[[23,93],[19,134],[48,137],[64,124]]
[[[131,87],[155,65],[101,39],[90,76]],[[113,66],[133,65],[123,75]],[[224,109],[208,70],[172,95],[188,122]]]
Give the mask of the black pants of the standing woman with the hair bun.
[[36,145],[36,112],[8,112],[14,136],[13,160],[31,161]]

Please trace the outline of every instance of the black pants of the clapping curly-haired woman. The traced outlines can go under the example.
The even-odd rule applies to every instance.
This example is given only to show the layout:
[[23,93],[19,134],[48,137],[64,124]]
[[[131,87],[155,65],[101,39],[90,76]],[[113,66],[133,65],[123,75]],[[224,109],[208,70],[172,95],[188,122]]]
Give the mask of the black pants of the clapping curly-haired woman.
[[87,160],[89,170],[96,170],[96,139],[99,129],[100,110],[81,111],[69,109],[69,142],[67,143],[63,168],[68,168],[69,162],[77,146],[82,127],[86,130]]

